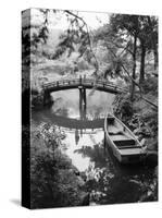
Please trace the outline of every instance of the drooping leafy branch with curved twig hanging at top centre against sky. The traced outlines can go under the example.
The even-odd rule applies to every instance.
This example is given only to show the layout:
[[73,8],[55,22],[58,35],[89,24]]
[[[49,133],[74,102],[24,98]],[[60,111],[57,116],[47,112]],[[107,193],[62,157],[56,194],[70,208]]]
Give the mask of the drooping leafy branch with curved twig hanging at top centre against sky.
[[91,35],[87,23],[78,14],[65,10],[64,14],[70,23],[68,28],[60,37],[61,41],[53,55],[53,59],[58,59],[65,51],[67,51],[68,57],[74,50],[78,51],[78,58],[84,58],[95,66],[95,76],[97,76],[99,64],[94,52]]

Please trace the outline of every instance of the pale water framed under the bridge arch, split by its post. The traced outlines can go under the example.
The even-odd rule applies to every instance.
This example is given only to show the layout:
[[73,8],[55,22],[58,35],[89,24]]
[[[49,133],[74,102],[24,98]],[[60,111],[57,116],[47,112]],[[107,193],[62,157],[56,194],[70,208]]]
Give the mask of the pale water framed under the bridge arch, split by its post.
[[[87,108],[86,118],[88,120],[104,117],[107,111],[111,111],[112,102],[114,100],[113,94],[108,94],[104,92],[95,92],[95,95],[89,96],[90,90],[86,90],[87,95]],[[54,104],[52,106],[52,112],[58,116],[64,116],[64,110],[66,111],[65,117],[70,118],[80,118],[79,111],[79,90],[60,90],[52,93],[52,98]],[[84,114],[83,114],[84,116]]]

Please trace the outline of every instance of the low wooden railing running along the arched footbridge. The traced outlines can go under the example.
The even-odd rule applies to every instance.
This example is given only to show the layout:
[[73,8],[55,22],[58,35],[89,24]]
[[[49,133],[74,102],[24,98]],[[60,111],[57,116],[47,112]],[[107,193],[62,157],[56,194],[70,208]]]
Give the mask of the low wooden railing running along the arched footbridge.
[[126,88],[119,87],[110,82],[105,82],[103,80],[91,80],[86,77],[79,77],[74,80],[62,80],[62,81],[54,81],[50,83],[42,84],[43,89],[49,89],[53,87],[63,87],[63,86],[73,86],[73,85],[91,85],[95,87],[105,87],[105,88],[112,88],[116,92],[127,92]]

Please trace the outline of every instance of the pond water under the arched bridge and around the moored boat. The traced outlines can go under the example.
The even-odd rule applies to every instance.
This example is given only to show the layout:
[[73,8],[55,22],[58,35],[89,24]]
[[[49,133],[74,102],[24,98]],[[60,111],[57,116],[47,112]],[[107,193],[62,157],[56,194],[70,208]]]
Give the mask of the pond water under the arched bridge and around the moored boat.
[[112,110],[114,95],[97,90],[90,95],[90,90],[87,90],[86,119],[96,120],[88,129],[79,129],[77,89],[52,93],[52,97],[54,102],[50,108],[33,112],[33,126],[40,122],[55,123],[57,120],[58,125],[65,131],[66,146],[62,152],[71,158],[82,178],[86,178],[91,204],[153,201],[155,169],[145,165],[121,166],[108,146],[104,146],[103,128],[98,123]]

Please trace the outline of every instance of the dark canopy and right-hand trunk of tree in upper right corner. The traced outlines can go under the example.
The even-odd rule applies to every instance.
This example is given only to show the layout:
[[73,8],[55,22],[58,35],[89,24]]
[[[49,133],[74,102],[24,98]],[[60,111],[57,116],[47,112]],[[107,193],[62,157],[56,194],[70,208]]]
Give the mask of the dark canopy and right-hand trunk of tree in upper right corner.
[[[125,34],[127,37],[138,38],[138,50],[141,57],[140,82],[144,82],[146,53],[153,51],[154,62],[158,64],[158,19],[155,16],[113,14],[110,23],[112,31],[120,34],[121,37]],[[128,48],[130,48],[129,45]],[[135,52],[138,50],[136,49]],[[136,55],[134,51],[130,52]]]

